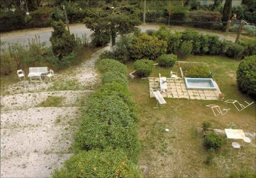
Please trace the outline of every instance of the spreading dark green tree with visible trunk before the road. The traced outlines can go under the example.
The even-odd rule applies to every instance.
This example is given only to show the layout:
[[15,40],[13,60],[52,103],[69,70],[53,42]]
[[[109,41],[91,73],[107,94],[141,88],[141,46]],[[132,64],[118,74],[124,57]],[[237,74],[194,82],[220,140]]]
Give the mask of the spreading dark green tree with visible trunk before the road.
[[[85,18],[85,25],[94,31],[94,37],[104,36],[107,38],[111,35],[112,45],[115,45],[117,33],[121,35],[131,33],[135,31],[135,26],[141,23],[135,5],[119,4],[116,7],[105,5],[95,10],[96,12],[89,15],[91,17]],[[99,42],[101,41],[99,40]]]

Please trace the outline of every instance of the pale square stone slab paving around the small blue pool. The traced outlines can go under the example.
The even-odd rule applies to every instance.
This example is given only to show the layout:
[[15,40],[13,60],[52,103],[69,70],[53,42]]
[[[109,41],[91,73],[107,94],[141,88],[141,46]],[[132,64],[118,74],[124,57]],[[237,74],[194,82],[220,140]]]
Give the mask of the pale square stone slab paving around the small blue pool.
[[[215,82],[215,81],[214,81]],[[216,90],[211,89],[187,89],[184,79],[167,79],[167,91],[162,92],[163,97],[169,98],[186,98],[186,99],[203,99],[203,100],[219,100],[221,91],[217,83]],[[149,78],[149,89],[154,91],[159,90],[159,78]],[[154,97],[153,93],[149,90],[150,97]]]

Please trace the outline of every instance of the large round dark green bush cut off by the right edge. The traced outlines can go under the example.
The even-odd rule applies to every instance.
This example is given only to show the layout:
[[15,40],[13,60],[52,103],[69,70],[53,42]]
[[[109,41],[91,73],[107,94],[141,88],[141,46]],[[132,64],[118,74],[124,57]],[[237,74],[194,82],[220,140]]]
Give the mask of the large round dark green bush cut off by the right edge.
[[245,57],[239,64],[237,84],[241,91],[256,96],[256,55]]

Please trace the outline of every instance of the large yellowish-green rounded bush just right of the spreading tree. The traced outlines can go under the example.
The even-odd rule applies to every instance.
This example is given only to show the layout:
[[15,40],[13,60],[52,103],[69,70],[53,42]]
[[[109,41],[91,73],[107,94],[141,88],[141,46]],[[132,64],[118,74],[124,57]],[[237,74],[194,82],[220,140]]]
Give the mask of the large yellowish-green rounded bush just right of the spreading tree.
[[133,39],[133,45],[129,49],[131,59],[156,59],[166,53],[167,43],[156,37],[141,33]]

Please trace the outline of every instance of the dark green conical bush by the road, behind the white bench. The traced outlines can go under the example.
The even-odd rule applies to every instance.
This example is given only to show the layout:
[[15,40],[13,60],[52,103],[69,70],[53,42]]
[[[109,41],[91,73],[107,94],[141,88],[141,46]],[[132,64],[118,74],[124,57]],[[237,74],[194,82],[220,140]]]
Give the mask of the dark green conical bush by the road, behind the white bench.
[[53,32],[50,37],[53,54],[59,59],[72,53],[75,47],[75,36],[65,29],[63,21],[53,22]]

